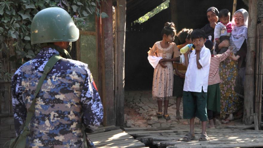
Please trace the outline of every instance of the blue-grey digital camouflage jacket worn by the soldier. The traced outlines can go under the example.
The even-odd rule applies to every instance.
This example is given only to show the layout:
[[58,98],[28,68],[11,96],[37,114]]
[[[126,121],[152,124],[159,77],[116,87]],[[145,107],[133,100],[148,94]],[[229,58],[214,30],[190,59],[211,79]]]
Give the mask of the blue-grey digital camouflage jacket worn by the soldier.
[[[25,122],[43,68],[54,54],[59,52],[43,48],[12,78],[16,134]],[[94,131],[102,119],[103,106],[88,65],[60,59],[48,73],[36,97],[27,147],[83,147],[82,131],[77,125],[84,123],[87,129]]]

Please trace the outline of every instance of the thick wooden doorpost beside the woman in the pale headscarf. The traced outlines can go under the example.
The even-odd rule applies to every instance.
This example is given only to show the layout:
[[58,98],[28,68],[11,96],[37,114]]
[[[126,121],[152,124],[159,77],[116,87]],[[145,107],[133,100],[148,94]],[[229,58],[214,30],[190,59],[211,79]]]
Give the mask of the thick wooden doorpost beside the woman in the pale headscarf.
[[249,16],[247,29],[247,56],[244,81],[244,114],[243,121],[251,125],[253,120],[255,48],[257,26],[257,0],[249,0]]

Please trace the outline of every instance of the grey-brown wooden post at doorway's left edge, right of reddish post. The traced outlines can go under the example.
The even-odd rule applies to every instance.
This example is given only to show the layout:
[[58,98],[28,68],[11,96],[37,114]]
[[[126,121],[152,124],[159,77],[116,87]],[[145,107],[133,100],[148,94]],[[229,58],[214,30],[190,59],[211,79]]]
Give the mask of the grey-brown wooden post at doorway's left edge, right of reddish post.
[[126,26],[126,0],[117,0],[115,29],[115,100],[116,125],[124,125],[124,51]]

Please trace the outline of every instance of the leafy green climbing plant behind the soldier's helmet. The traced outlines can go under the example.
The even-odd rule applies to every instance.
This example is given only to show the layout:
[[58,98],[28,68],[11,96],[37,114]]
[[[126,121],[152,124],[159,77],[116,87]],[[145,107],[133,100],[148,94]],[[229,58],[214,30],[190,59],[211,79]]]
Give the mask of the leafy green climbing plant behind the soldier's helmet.
[[[102,18],[108,17],[100,13],[101,0],[1,0],[0,1],[0,52],[9,53],[14,48],[16,56],[10,61],[19,67],[24,62],[33,59],[39,52],[37,45],[30,44],[30,27],[33,17],[42,9],[61,7],[68,11],[80,30],[86,28],[84,19],[96,14]],[[105,0],[103,0],[105,1]],[[1,62],[0,62],[1,67]],[[1,73],[1,71],[0,71]],[[3,77],[0,75],[0,78]]]

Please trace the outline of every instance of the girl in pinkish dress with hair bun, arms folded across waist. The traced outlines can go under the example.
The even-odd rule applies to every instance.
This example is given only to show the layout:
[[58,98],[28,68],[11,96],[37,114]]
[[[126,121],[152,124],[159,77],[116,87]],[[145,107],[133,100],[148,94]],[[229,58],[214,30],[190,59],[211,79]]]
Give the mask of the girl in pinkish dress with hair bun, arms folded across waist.
[[[176,30],[173,22],[166,22],[161,32],[162,41],[156,42],[148,51],[148,60],[154,69],[152,97],[157,100],[158,117],[169,120],[167,114],[169,99],[173,92],[173,61],[180,60],[180,52],[174,42]],[[164,100],[164,112],[162,102]],[[163,112],[163,113],[162,113]]]

